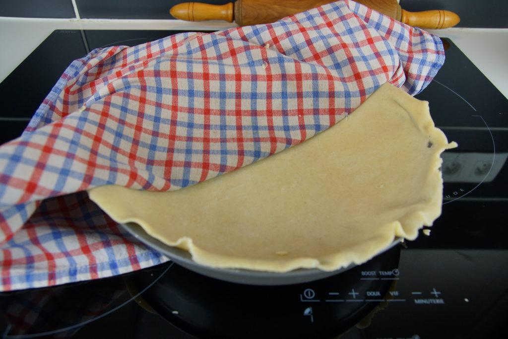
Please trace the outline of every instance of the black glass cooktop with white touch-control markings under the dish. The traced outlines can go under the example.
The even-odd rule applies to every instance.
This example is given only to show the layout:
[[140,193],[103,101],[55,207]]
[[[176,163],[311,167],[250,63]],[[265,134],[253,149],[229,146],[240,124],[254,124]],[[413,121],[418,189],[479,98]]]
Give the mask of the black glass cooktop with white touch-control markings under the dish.
[[[56,30],[2,83],[0,143],[18,136],[72,60],[176,31]],[[508,100],[453,44],[417,98],[459,147],[443,153],[430,236],[289,286],[217,281],[176,264],[0,294],[5,338],[504,338]],[[65,48],[62,48],[65,47]]]

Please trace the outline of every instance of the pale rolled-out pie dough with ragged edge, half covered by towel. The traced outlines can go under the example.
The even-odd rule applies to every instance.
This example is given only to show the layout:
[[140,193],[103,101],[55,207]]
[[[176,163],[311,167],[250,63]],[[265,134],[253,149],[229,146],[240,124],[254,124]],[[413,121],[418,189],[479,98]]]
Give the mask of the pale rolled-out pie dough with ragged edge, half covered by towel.
[[177,191],[89,191],[118,223],[212,267],[285,272],[363,263],[441,213],[440,153],[455,147],[428,103],[391,84],[324,132]]

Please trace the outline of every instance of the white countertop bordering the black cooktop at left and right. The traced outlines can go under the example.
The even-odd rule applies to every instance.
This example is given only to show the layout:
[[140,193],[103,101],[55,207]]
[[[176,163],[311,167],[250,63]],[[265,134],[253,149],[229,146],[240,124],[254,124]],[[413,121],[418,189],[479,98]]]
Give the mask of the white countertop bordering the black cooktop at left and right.
[[[47,19],[0,17],[0,81],[4,80],[55,29],[219,30],[235,27],[224,21],[189,22],[153,19]],[[508,28],[429,30],[450,38],[508,98]],[[474,84],[471,84],[473,86]]]

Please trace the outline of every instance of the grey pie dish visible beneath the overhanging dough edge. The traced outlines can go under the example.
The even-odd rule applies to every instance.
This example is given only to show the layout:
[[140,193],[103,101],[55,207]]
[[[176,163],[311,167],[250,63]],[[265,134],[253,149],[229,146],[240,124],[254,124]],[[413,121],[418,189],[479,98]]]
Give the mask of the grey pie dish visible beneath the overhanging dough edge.
[[[232,283],[271,286],[299,284],[323,279],[327,276],[335,275],[356,266],[351,264],[350,266],[340,268],[335,271],[322,271],[319,269],[302,268],[284,273],[252,271],[246,269],[214,268],[196,263],[192,260],[190,254],[187,251],[166,245],[165,243],[151,237],[143,230],[141,226],[136,223],[120,224],[120,226],[135,236],[139,241],[150,246],[154,250],[161,252],[178,265],[194,272],[209,276],[210,278],[224,280]],[[395,239],[395,241],[382,252],[391,249],[398,243],[400,243],[400,239]]]

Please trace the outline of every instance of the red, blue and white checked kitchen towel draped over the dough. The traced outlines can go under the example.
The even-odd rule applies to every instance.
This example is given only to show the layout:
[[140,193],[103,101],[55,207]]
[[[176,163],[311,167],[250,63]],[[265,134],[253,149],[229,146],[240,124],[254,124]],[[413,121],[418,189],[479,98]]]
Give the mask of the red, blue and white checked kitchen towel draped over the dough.
[[385,82],[419,93],[443,61],[437,37],[351,1],[93,50],[23,135],[0,146],[2,290],[167,260],[83,191],[168,191],[213,178],[336,124]]

